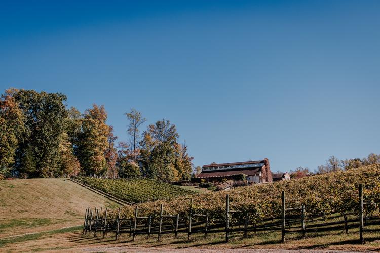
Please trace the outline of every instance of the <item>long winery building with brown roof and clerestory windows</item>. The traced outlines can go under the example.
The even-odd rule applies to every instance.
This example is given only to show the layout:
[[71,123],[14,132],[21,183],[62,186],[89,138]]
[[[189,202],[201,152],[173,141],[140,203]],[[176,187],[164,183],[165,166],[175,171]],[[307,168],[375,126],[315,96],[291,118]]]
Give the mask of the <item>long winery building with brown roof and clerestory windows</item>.
[[244,161],[233,163],[211,163],[202,167],[198,179],[207,182],[220,181],[221,179],[239,180],[244,174],[249,183],[271,183],[272,172],[267,158],[259,161]]

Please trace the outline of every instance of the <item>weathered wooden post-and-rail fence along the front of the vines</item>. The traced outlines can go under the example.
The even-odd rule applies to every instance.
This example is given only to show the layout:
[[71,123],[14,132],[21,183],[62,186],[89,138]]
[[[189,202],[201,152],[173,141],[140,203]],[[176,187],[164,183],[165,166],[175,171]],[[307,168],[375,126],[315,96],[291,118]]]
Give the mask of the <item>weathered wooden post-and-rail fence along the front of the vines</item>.
[[[187,233],[188,238],[192,234],[203,233],[204,238],[207,238],[208,233],[225,233],[225,242],[229,241],[231,233],[243,232],[243,237],[247,236],[249,231],[254,233],[259,231],[280,231],[282,232],[281,241],[285,242],[286,234],[300,233],[301,238],[305,238],[307,233],[325,232],[344,229],[348,233],[348,229],[359,227],[359,241],[364,243],[364,232],[378,232],[380,229],[366,229],[364,225],[380,225],[380,217],[366,218],[364,223],[363,205],[374,204],[363,202],[363,185],[359,185],[359,217],[357,219],[348,219],[344,216],[344,220],[335,221],[323,224],[306,224],[305,206],[295,206],[286,208],[286,195],[282,192],[282,208],[281,217],[278,219],[265,219],[260,224],[249,221],[248,213],[242,213],[230,209],[229,194],[226,194],[225,213],[223,220],[214,220],[210,224],[209,214],[195,214],[193,210],[193,199],[189,199],[189,210],[187,217],[182,217],[180,222],[179,214],[165,215],[164,205],[161,205],[158,222],[153,223],[153,217],[143,217],[138,215],[138,205],[135,206],[135,214],[132,219],[120,217],[120,207],[116,218],[108,218],[108,208],[105,208],[104,216],[99,218],[102,209],[90,207],[85,211],[85,219],[83,226],[83,234],[93,233],[94,237],[101,234],[103,237],[107,233],[115,234],[115,239],[118,239],[120,234],[127,233],[134,241],[136,235],[145,234],[150,238],[152,234],[157,234],[158,240],[161,240],[163,234],[174,234],[177,237],[178,233]],[[289,214],[290,213],[290,214]],[[232,216],[239,217],[238,222],[232,226]],[[318,217],[309,217],[318,219]],[[299,226],[300,224],[300,226]],[[343,225],[343,227],[342,227]]]

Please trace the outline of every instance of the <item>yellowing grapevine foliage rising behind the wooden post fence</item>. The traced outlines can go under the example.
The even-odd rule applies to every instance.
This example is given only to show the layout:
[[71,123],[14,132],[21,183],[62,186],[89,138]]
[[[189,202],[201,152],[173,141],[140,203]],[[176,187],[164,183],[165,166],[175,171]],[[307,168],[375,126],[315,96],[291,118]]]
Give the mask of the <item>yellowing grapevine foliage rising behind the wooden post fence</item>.
[[[278,218],[281,214],[281,192],[284,190],[287,207],[305,205],[308,216],[357,214],[359,183],[364,184],[365,202],[380,203],[380,165],[370,165],[347,172],[197,194],[193,196],[194,212],[208,212],[212,218],[224,219],[225,195],[228,193],[231,209],[248,213],[252,221]],[[141,204],[141,215],[157,217],[161,203],[164,203],[166,213],[187,217],[189,202],[186,197]],[[374,205],[366,205],[365,212],[372,212],[375,208]],[[125,206],[123,213],[132,217],[133,207]]]

